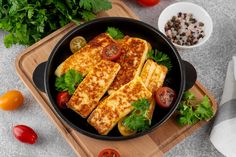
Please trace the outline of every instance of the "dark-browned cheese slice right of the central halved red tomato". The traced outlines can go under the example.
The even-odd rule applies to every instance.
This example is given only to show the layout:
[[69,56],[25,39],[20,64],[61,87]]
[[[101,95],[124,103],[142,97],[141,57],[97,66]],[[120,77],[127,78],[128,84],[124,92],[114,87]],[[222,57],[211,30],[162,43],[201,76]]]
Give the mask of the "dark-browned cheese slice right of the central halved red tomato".
[[120,44],[123,51],[116,62],[121,69],[108,90],[109,94],[140,74],[148,52],[147,42],[140,38],[126,36]]

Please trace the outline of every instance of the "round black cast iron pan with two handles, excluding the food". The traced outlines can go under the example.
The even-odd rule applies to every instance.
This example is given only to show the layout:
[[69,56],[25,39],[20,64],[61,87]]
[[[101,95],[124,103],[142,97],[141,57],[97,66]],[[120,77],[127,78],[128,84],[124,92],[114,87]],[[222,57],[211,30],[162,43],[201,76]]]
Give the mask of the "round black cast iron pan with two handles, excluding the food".
[[[105,32],[107,27],[116,27],[119,28],[126,35],[129,35],[131,37],[139,37],[147,40],[151,43],[153,48],[156,48],[159,51],[166,53],[171,58],[171,62],[173,65],[173,68],[168,73],[164,83],[165,85],[174,89],[177,93],[176,100],[172,104],[172,107],[169,109],[162,109],[157,106],[153,114],[150,129],[127,137],[122,136],[119,133],[117,126],[114,127],[108,135],[99,135],[97,131],[87,123],[86,119],[80,117],[71,109],[59,109],[56,104],[57,91],[54,87],[54,71],[61,62],[63,62],[67,57],[72,54],[69,49],[69,42],[73,37],[78,35],[83,36],[87,41],[90,41],[95,36]],[[40,77],[42,76],[42,73],[44,73],[44,81],[42,81],[43,79],[42,77]],[[186,74],[188,76],[187,79]],[[176,110],[183,95],[183,92],[186,89],[192,87],[195,83],[196,71],[190,63],[183,61],[180,58],[176,48],[161,32],[159,32],[155,28],[134,19],[108,17],[99,18],[87,22],[83,25],[76,27],[68,34],[66,34],[54,47],[47,63],[42,63],[35,69],[33,80],[39,89],[41,89],[42,91],[46,90],[49,100],[58,116],[75,130],[97,139],[126,140],[145,135],[150,131],[158,128],[162,123],[164,123]]]

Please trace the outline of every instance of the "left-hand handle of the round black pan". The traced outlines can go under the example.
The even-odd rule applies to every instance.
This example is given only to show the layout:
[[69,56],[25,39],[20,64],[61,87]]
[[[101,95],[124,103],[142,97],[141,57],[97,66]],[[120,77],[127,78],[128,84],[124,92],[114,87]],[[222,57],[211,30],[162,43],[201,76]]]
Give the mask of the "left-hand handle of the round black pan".
[[44,85],[44,71],[46,68],[47,62],[40,63],[33,72],[33,82],[35,86],[41,91],[46,93],[45,85]]

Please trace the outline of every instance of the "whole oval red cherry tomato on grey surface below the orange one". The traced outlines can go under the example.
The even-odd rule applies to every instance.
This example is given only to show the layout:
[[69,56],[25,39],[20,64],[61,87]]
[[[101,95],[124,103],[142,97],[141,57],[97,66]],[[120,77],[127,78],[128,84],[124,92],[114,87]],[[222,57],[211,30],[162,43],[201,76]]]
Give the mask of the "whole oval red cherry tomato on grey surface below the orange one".
[[28,144],[34,144],[37,141],[37,134],[26,125],[16,125],[13,128],[13,134],[19,141]]

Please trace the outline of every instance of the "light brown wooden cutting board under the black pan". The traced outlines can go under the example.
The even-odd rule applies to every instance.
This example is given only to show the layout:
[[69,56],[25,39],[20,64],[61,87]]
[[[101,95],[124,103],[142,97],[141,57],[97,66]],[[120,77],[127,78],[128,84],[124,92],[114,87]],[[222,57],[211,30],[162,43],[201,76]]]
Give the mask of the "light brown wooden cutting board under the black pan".
[[[99,16],[122,16],[137,19],[137,16],[125,6],[122,1],[113,1],[113,8],[107,12],[101,13]],[[75,25],[70,23],[24,50],[17,57],[16,70],[23,83],[31,91],[39,105],[51,118],[61,135],[78,156],[96,157],[104,148],[116,149],[122,157],[162,156],[165,152],[206,123],[199,122],[193,126],[179,127],[175,119],[171,117],[152,133],[126,141],[103,141],[93,139],[64,124],[52,109],[47,95],[40,92],[34,85],[32,74],[40,63],[47,61],[55,44],[74,27]],[[202,99],[204,95],[207,95],[216,111],[217,104],[215,99],[198,81],[192,87],[191,91],[196,95],[198,100]]]

